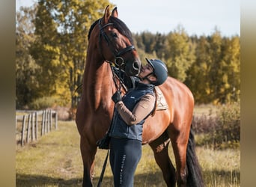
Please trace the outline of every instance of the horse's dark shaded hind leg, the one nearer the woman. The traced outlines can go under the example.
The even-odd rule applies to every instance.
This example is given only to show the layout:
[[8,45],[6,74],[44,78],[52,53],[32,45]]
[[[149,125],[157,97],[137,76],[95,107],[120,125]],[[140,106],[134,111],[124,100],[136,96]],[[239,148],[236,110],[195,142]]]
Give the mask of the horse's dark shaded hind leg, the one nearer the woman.
[[175,168],[171,163],[171,159],[168,155],[168,144],[170,139],[166,132],[164,132],[159,138],[150,143],[150,147],[153,150],[153,154],[156,160],[156,164],[162,171],[162,176],[166,185],[169,187],[175,186]]

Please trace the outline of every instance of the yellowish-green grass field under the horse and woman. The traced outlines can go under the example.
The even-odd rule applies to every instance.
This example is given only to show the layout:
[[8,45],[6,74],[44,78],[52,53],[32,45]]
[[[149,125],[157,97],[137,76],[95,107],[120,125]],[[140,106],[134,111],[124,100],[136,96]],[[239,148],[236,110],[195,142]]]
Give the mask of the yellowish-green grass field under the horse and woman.
[[[196,151],[206,186],[240,186],[239,149],[197,147]],[[174,162],[171,147],[170,154]],[[97,186],[105,156],[106,150],[98,150],[94,186]],[[59,121],[58,130],[49,132],[34,144],[16,149],[16,186],[82,186],[82,158],[74,122]],[[102,186],[113,186],[109,162]],[[165,186],[148,145],[143,147],[135,172],[135,186]]]

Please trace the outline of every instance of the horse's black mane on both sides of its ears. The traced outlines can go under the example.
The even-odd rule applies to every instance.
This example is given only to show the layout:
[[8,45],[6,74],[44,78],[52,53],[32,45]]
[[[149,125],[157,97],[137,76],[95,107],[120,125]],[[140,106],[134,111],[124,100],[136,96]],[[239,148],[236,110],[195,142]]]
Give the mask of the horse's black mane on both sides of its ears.
[[[90,39],[91,36],[91,31],[94,29],[95,25],[97,25],[97,23],[99,22],[100,19],[97,19],[92,25],[91,28],[89,30],[89,34],[88,34],[88,40]],[[129,31],[129,28],[127,27],[127,25],[121,21],[121,19],[118,19],[116,17],[110,16],[109,18],[109,22],[112,22],[114,24],[114,27],[116,29],[118,29],[118,31],[123,34],[124,36],[126,36],[129,41],[132,43],[133,45],[133,40],[132,40],[132,32]]]

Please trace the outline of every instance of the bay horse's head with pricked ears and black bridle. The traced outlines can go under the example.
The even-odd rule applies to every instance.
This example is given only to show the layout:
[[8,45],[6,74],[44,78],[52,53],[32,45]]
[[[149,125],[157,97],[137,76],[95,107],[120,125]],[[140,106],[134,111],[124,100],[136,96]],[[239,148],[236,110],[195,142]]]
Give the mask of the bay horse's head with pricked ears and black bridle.
[[114,61],[128,76],[138,75],[141,60],[132,42],[132,33],[120,19],[117,7],[109,12],[106,7],[104,16],[98,21],[100,29],[100,51],[105,61]]

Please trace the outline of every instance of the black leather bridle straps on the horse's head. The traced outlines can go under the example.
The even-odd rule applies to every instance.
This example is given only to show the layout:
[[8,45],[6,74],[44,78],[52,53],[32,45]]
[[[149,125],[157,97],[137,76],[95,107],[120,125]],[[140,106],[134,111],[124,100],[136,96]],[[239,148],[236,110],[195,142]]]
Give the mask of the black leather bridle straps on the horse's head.
[[[124,55],[125,53],[129,52],[129,51],[132,51],[132,50],[135,50],[135,46],[127,46],[126,48],[124,49],[121,49],[120,51],[117,52],[117,50],[114,48],[114,46],[112,45],[111,43],[111,40],[109,40],[109,37],[108,35],[106,34],[106,32],[104,31],[104,28],[110,26],[110,25],[114,25],[114,23],[112,22],[109,22],[107,23],[106,25],[101,25],[101,19],[99,20],[99,27],[100,27],[100,38],[101,36],[104,38],[104,40],[106,40],[106,43],[107,45],[109,46],[109,48],[111,49],[112,51],[112,54],[114,56],[114,61],[115,61],[115,64],[118,66],[118,67],[121,67],[121,66],[124,66],[124,58],[121,57],[121,55]],[[101,54],[103,54],[101,52]],[[103,57],[104,58],[104,57]],[[106,60],[106,58],[104,58]],[[108,60],[106,60],[108,61]]]

